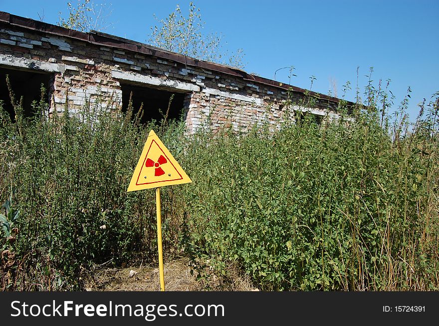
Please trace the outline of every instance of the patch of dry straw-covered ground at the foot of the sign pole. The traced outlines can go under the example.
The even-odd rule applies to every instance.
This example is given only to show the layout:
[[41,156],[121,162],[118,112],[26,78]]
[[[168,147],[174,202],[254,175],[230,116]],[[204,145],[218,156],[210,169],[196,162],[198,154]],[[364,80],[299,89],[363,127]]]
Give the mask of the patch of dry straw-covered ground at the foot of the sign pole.
[[[165,262],[164,271],[166,291],[258,291],[240,277],[210,275],[197,280],[187,258]],[[88,279],[86,291],[160,291],[158,266],[102,268],[90,273]]]

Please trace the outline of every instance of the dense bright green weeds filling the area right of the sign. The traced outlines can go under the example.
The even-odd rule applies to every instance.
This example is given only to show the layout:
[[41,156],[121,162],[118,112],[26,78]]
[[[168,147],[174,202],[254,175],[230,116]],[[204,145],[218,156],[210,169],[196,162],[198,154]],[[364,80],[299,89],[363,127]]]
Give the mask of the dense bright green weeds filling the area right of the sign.
[[438,289],[438,102],[411,135],[392,125],[400,138],[377,111],[195,137],[185,241],[200,277],[237,268],[262,290]]

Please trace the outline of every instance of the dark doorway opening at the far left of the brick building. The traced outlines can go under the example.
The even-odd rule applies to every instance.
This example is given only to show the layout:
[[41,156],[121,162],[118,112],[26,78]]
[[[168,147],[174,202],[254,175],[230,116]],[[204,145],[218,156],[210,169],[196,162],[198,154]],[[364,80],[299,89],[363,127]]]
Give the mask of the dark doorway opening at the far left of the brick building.
[[32,108],[32,102],[39,102],[41,99],[41,85],[44,86],[47,94],[52,75],[0,67],[0,100],[3,102],[3,109],[9,113],[12,121],[15,121],[15,111],[10,102],[9,90],[6,84],[6,75],[9,76],[9,82],[15,97],[15,102],[20,103],[20,99],[23,97],[24,116],[33,116],[35,111]]

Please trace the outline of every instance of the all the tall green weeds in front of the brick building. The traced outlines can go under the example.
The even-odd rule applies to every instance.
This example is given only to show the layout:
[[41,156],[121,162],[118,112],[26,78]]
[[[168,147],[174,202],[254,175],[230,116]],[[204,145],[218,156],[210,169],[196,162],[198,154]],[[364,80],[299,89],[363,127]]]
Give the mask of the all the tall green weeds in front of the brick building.
[[392,119],[390,100],[369,84],[355,119],[341,101],[337,123],[307,115],[187,137],[178,121],[139,125],[99,102],[47,118],[41,101],[24,118],[12,97],[0,286],[78,290],[98,265],[155,259],[154,191],[126,193],[154,127],[193,180],[162,190],[165,253],[189,256],[201,280],[238,271],[261,290],[437,290],[439,94],[412,128],[408,98]]

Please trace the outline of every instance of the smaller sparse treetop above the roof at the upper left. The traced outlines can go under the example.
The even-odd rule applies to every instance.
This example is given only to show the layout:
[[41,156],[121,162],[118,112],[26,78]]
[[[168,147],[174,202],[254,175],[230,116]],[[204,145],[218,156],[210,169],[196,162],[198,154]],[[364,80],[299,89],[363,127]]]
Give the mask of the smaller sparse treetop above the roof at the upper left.
[[112,13],[112,10],[107,11],[111,4],[95,4],[90,0],[78,0],[76,7],[72,6],[71,2],[67,2],[67,7],[69,16],[65,19],[62,17],[62,12],[59,12],[58,26],[89,32],[90,30],[101,31],[113,25],[107,21]]

